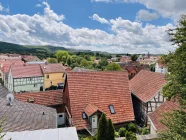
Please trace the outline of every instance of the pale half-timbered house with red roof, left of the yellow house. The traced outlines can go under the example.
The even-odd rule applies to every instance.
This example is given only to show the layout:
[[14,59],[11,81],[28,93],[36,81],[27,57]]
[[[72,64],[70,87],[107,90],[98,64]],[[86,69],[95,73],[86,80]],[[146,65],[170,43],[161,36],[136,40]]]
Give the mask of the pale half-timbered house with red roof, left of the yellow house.
[[8,74],[10,92],[42,91],[44,77],[40,65],[12,65]]

